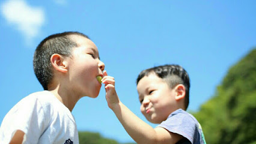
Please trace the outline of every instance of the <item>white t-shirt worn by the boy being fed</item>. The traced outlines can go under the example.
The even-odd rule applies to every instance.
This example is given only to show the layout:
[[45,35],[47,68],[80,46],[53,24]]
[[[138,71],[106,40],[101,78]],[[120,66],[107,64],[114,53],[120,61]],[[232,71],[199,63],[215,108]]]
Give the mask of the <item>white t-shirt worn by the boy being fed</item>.
[[5,115],[0,143],[9,143],[16,130],[25,133],[24,143],[79,143],[72,113],[49,91],[28,95]]

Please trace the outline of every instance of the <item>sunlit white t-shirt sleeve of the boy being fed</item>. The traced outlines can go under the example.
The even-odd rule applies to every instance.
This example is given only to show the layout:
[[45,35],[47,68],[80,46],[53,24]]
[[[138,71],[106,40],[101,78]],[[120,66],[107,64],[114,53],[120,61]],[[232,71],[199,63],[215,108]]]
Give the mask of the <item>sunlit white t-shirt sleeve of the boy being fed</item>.
[[37,98],[25,98],[14,106],[5,116],[0,133],[4,141],[10,142],[16,130],[22,130],[26,139],[37,142],[47,127],[44,110]]

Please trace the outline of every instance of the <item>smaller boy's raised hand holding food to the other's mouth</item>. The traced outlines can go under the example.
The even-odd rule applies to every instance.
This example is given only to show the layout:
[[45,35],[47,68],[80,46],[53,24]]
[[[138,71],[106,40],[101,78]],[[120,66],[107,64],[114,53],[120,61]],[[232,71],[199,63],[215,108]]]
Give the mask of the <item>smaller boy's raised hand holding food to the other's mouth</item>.
[[115,79],[114,77],[108,76],[106,71],[103,71],[102,83],[105,83],[106,90],[106,100],[108,102],[108,107],[113,109],[115,105],[119,104],[119,98],[117,92],[115,91]]

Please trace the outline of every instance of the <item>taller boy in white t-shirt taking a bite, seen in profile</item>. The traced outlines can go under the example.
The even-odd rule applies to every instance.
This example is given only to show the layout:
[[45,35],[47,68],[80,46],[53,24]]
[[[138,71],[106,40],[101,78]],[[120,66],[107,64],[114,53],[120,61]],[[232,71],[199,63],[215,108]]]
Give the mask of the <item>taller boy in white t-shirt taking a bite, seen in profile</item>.
[[96,45],[80,32],[53,34],[37,46],[33,64],[44,91],[7,113],[0,143],[79,143],[71,112],[80,98],[99,95],[105,65]]

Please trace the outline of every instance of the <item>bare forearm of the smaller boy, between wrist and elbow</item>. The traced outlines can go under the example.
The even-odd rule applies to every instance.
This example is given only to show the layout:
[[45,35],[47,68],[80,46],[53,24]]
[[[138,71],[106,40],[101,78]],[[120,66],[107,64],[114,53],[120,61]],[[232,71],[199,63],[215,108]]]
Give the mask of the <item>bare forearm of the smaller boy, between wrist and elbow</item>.
[[113,112],[123,125],[127,133],[135,142],[139,143],[156,143],[157,133],[153,127],[142,121],[132,113],[123,103],[116,104],[112,107]]

